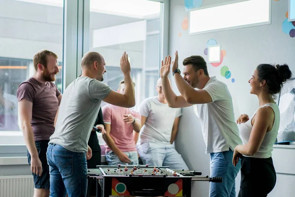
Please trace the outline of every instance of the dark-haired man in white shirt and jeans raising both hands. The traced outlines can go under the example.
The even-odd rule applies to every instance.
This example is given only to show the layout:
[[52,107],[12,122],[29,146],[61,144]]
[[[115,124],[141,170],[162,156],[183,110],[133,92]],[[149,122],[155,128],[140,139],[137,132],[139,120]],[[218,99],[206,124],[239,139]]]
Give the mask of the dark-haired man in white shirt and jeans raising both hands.
[[[178,69],[178,54],[172,66],[173,76],[181,96],[169,85],[171,57],[162,61],[160,76],[162,88],[170,107],[188,107],[196,104],[200,118],[206,153],[210,153],[210,176],[222,177],[222,183],[210,183],[210,197],[236,197],[236,175],[239,166],[232,164],[233,151],[242,141],[234,117],[231,94],[225,83],[209,77],[207,64],[201,56],[183,60],[183,77]],[[240,162],[239,162],[240,164]]]

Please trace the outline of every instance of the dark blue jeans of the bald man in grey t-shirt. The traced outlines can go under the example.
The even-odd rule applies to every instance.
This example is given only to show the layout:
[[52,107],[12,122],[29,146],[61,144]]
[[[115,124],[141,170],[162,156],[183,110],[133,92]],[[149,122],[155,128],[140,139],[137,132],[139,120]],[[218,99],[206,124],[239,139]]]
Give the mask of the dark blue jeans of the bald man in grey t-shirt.
[[47,149],[50,197],[86,197],[86,152],[76,153],[50,143]]

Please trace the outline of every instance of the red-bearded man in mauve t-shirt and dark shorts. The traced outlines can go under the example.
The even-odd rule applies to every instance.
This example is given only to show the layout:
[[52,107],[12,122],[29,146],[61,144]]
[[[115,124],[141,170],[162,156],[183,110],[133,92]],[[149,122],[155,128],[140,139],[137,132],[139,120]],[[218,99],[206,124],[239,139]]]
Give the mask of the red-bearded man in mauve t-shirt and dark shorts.
[[58,56],[47,50],[33,58],[35,73],[17,90],[21,127],[27,145],[28,161],[34,177],[34,197],[49,197],[49,165],[46,151],[54,133],[54,121],[61,94],[53,83],[59,72]]

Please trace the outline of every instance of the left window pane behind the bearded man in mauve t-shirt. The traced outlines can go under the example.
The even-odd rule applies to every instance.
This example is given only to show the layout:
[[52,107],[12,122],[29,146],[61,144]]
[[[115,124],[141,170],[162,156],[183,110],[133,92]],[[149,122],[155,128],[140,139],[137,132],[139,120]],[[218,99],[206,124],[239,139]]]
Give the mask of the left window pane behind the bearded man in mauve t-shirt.
[[37,51],[58,55],[61,91],[62,34],[63,0],[0,0],[0,131],[20,131],[16,91],[34,74]]

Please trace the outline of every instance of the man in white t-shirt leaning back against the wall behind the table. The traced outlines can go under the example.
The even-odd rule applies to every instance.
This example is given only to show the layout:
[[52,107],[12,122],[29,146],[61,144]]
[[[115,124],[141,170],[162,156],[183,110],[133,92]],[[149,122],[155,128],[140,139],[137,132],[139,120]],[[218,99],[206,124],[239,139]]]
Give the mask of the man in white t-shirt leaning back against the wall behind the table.
[[145,99],[140,105],[142,129],[138,153],[145,164],[188,169],[174,147],[181,108],[171,108],[162,92],[162,80],[157,81],[157,97]]

